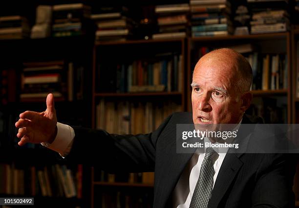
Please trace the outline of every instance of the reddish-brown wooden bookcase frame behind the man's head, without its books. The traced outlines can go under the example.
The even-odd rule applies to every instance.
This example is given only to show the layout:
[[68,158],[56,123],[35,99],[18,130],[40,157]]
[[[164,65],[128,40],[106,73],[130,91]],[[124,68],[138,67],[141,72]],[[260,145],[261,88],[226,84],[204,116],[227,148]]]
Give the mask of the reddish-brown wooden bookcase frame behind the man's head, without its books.
[[[273,42],[278,44],[274,46]],[[283,105],[286,105],[287,119],[284,122],[291,123],[291,112],[292,112],[292,88],[291,86],[291,77],[290,74],[293,71],[291,69],[291,38],[289,32],[282,33],[268,33],[268,34],[253,34],[253,35],[228,35],[228,36],[219,36],[219,37],[200,37],[200,38],[189,38],[187,43],[187,82],[192,81],[192,71],[196,64],[194,60],[194,53],[196,48],[208,47],[209,49],[215,49],[220,47],[232,47],[238,45],[250,44],[253,46],[252,52],[258,52],[262,55],[264,54],[285,54],[287,57],[287,88],[278,89],[278,90],[253,90],[254,95],[253,103],[256,99],[263,98],[274,98],[280,100]],[[194,49],[195,48],[195,49]],[[195,51],[195,52],[194,52]],[[245,53],[246,54],[246,53]],[[247,52],[248,54],[248,52]],[[246,55],[245,55],[246,56]],[[270,55],[271,56],[271,55]],[[187,88],[187,109],[191,111],[191,88]],[[280,102],[279,101],[279,102]]]

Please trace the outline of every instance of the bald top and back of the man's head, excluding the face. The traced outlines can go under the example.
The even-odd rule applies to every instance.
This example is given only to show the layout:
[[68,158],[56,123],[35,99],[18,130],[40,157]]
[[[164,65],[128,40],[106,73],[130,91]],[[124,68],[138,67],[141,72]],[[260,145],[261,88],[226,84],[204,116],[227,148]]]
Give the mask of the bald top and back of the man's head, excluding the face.
[[[248,92],[252,83],[252,68],[244,56],[230,48],[213,50],[199,59],[194,71],[202,64],[221,66],[222,72],[229,74],[238,93]],[[213,69],[213,68],[211,68]]]

